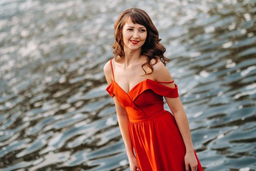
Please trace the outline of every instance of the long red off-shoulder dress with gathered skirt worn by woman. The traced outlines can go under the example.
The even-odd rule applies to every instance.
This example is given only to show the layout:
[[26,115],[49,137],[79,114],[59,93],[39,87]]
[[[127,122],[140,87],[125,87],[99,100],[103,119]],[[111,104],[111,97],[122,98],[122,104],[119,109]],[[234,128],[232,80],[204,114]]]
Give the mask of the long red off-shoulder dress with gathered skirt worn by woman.
[[[132,143],[140,171],[185,171],[186,148],[173,114],[164,110],[163,96],[178,97],[177,85],[171,88],[151,79],[135,85],[126,93],[116,82],[106,91],[127,111]],[[197,171],[203,171],[197,158]]]

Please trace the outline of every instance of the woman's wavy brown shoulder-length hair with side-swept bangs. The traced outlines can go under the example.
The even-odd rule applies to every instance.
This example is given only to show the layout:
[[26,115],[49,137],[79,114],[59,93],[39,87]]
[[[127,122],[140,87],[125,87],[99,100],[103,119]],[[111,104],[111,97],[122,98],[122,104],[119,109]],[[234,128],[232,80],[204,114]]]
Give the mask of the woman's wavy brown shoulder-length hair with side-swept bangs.
[[[143,25],[147,29],[147,38],[145,43],[142,45],[140,52],[140,55],[145,55],[147,57],[147,62],[141,65],[142,69],[144,70],[143,66],[145,65],[153,72],[154,69],[150,64],[150,61],[153,58],[156,59],[156,61],[159,59],[164,65],[170,62],[171,60],[165,58],[163,55],[166,49],[161,43],[159,43],[161,39],[158,38],[159,34],[156,26],[148,14],[139,8],[129,8],[124,10],[115,22],[115,43],[112,45],[114,48],[113,54],[115,55],[115,60],[119,62],[124,58],[122,28],[129,18],[133,23]],[[147,74],[145,70],[144,72]]]

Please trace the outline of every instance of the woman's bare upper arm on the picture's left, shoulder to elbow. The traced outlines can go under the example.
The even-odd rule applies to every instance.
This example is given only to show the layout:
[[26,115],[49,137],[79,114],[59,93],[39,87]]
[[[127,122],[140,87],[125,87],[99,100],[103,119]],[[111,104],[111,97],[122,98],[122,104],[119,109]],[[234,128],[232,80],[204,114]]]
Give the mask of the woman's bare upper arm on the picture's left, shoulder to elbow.
[[[111,69],[111,64],[110,61],[108,61],[104,67],[103,67],[103,71],[104,71],[104,75],[106,78],[106,81],[108,83],[108,85],[110,85],[113,82],[113,76],[112,76],[112,69]],[[125,108],[123,108],[117,99],[117,96],[113,96],[113,100],[116,106],[116,110],[117,110],[117,114],[118,115],[127,115]]]

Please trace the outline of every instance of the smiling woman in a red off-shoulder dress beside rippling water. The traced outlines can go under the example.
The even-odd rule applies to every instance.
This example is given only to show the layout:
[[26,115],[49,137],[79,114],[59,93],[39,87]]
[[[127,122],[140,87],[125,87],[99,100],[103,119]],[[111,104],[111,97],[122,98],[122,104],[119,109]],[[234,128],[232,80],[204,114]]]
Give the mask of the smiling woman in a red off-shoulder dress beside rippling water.
[[[115,23],[115,58],[104,65],[131,171],[203,171],[188,120],[148,14],[123,11]],[[164,110],[163,96],[171,112]],[[134,151],[135,150],[135,154]]]

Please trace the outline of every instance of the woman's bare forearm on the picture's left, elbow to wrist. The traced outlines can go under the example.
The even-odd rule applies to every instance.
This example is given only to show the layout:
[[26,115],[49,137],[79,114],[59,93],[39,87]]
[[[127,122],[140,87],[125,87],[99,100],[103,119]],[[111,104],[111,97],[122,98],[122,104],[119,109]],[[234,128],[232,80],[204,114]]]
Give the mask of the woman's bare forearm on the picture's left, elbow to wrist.
[[120,132],[122,134],[122,138],[124,141],[124,145],[126,148],[128,158],[135,156],[133,152],[133,143],[129,131],[129,119],[127,115],[117,115],[118,117],[118,125],[120,128]]

